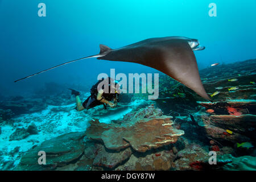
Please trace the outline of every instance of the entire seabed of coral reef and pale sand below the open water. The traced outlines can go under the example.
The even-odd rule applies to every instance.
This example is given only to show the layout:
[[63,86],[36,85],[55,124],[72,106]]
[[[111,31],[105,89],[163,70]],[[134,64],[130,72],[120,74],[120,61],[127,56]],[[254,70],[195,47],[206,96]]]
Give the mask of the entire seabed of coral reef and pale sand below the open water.
[[[256,59],[200,70],[213,102],[160,73],[159,99],[73,110],[67,87],[2,96],[1,170],[256,170]],[[89,87],[75,87],[84,100]],[[57,95],[55,95],[57,94]],[[47,164],[38,164],[46,151]],[[209,164],[209,151],[217,164]]]

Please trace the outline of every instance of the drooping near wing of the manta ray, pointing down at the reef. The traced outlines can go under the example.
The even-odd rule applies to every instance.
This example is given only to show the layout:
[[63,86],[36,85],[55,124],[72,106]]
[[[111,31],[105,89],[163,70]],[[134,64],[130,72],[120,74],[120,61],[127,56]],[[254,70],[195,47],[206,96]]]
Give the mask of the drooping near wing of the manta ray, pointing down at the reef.
[[[148,64],[150,66],[151,63]],[[210,101],[201,82],[195,54],[187,42],[177,41],[170,44],[168,50],[165,49],[162,52],[161,59],[155,66],[159,71],[166,73]]]

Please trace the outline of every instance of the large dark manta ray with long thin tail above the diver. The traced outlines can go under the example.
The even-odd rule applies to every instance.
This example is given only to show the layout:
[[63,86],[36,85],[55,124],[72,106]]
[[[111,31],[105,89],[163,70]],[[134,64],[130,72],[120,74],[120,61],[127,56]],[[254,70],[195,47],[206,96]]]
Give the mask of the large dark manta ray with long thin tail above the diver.
[[205,49],[205,47],[200,46],[197,39],[190,39],[182,36],[150,38],[117,49],[112,49],[100,44],[100,53],[97,55],[68,61],[33,75],[20,78],[15,82],[60,67],[61,65],[97,57],[99,60],[126,61],[155,68],[181,82],[188,88],[194,90],[199,96],[210,101],[201,82],[196,57],[193,53],[193,51],[200,51],[203,49]]

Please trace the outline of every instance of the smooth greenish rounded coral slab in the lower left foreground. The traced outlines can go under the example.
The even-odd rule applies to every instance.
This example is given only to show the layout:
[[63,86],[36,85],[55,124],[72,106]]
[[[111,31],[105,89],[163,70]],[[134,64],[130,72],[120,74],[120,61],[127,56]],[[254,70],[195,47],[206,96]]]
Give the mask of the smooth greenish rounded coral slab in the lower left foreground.
[[[22,156],[15,170],[49,170],[68,165],[77,160],[84,152],[84,132],[68,133],[46,140]],[[38,164],[38,152],[45,151],[47,164]]]

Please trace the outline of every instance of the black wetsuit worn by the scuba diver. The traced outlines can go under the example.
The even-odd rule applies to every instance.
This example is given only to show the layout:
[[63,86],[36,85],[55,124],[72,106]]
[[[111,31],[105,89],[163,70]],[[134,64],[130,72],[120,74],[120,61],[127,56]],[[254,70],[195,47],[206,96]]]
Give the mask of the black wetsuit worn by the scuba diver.
[[[98,105],[104,105],[104,108],[106,109],[106,105],[104,103],[102,103],[101,101],[97,100],[97,95],[98,95],[98,84],[100,84],[102,80],[98,81],[95,85],[92,86],[92,88],[90,89],[90,96],[82,103],[82,106],[85,109],[91,109],[95,106]],[[103,88],[104,89],[104,85]],[[110,86],[109,86],[109,90],[110,90]],[[103,93],[102,97],[107,100],[107,101],[112,101],[113,98],[117,98],[118,97],[118,93]]]

